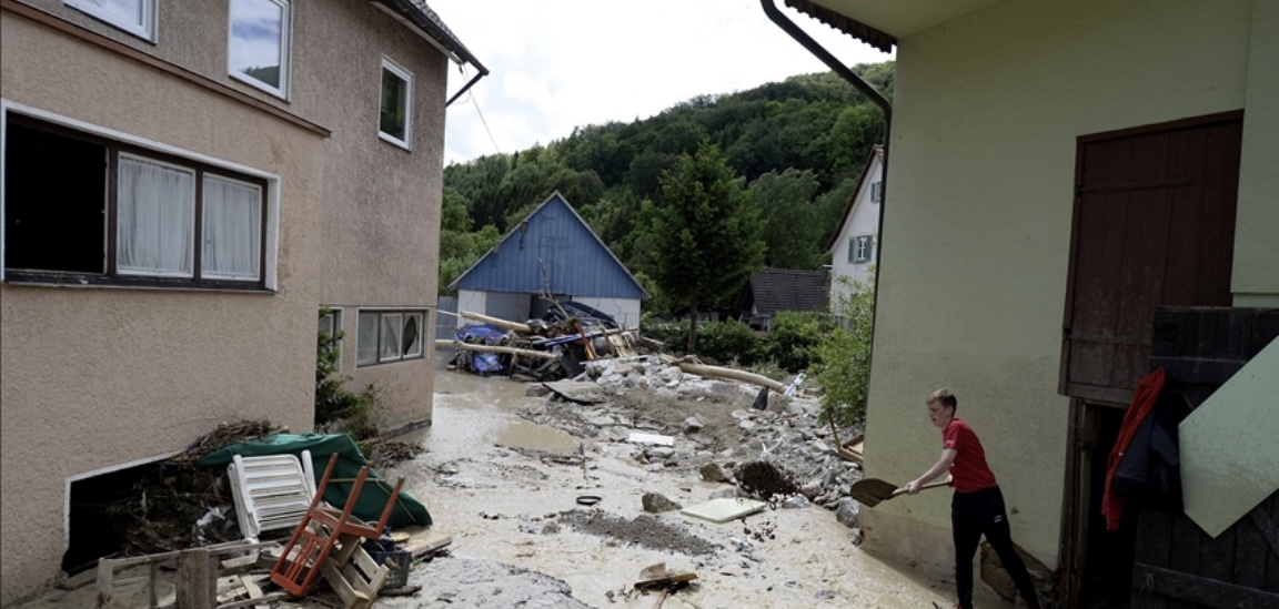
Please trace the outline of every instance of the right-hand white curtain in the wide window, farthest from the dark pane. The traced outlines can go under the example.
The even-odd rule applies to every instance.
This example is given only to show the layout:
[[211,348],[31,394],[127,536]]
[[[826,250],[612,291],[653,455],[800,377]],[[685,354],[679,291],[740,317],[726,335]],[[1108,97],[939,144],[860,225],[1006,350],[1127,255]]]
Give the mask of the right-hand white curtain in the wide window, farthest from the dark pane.
[[262,268],[262,189],[205,176],[203,277],[257,281]]

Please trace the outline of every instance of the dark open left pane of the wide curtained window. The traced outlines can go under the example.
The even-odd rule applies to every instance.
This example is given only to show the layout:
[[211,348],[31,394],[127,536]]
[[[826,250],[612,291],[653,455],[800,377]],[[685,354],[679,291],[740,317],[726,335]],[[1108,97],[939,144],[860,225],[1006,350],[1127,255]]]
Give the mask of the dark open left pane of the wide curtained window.
[[106,271],[106,147],[9,123],[5,267]]

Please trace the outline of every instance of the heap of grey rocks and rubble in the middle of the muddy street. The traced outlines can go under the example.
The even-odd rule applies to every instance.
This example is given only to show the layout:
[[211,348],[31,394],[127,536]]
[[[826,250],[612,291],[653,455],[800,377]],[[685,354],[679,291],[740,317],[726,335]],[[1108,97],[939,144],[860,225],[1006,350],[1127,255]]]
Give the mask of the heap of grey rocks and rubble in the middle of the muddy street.
[[531,386],[546,400],[519,414],[581,438],[636,444],[650,467],[735,483],[739,494],[778,507],[839,509],[862,477],[836,452],[816,400],[770,391],[781,383],[757,400],[757,386],[689,374],[657,355],[591,361],[578,379]]

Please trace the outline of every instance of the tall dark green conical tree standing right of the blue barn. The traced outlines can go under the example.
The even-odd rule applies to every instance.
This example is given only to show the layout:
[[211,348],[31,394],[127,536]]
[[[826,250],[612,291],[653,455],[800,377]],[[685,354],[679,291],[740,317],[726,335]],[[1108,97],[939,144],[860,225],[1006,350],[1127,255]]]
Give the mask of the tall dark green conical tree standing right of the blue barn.
[[703,140],[696,154],[661,180],[655,208],[654,278],[688,305],[688,352],[697,352],[697,317],[703,304],[726,300],[764,259],[757,218],[744,209],[742,183],[718,147]]

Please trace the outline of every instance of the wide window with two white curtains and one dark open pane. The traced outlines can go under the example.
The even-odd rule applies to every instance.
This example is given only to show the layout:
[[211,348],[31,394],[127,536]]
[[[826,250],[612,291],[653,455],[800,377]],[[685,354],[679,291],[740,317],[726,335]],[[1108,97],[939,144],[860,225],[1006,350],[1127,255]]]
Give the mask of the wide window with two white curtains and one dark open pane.
[[265,287],[266,180],[5,119],[6,281]]

